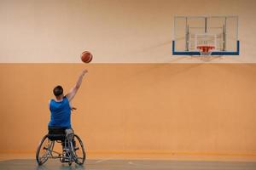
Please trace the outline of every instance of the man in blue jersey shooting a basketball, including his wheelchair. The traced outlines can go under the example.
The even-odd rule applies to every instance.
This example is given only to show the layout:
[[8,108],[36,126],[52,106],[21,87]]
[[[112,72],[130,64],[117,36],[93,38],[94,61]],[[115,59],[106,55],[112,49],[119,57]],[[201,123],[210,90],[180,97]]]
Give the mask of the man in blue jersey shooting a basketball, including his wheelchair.
[[[73,133],[73,128],[71,125],[71,111],[76,110],[76,108],[71,105],[71,101],[77,94],[82,84],[84,75],[86,73],[87,73],[87,70],[82,71],[75,86],[66,95],[63,94],[63,88],[61,86],[56,86],[53,89],[53,94],[55,95],[55,99],[49,100],[49,111],[50,111],[50,121],[48,124],[49,133],[44,136],[37,150],[36,157],[39,165],[42,165],[45,161],[47,161],[49,157],[60,158],[61,162],[69,162],[70,165],[72,161],[76,161],[78,164],[84,163],[84,159],[85,159],[84,156],[82,157],[82,161],[79,161],[79,156],[77,156],[76,159],[73,160],[72,154],[70,153],[69,150],[73,150],[73,153],[74,153],[73,155],[75,157],[76,156],[75,151],[79,150],[79,147],[76,147],[75,139],[77,139],[78,140],[77,142],[82,144],[81,148],[83,149],[82,151],[83,151],[83,154],[85,155],[84,145],[81,139],[79,139],[79,136]],[[46,141],[46,139],[48,139],[48,143],[44,142]],[[55,152],[53,150],[55,141],[60,142],[62,144],[62,154],[58,153],[59,154],[58,157],[55,157],[52,155],[53,152]],[[71,142],[72,144],[69,144],[69,142]],[[41,156],[40,153],[43,153],[43,156]]]

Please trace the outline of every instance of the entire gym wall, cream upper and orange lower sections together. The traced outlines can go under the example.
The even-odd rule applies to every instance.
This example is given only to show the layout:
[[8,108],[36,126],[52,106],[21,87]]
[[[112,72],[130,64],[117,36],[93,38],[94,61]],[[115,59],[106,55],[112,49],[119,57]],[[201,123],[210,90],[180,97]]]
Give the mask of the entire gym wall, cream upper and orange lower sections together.
[[[52,88],[98,153],[256,155],[255,2],[0,0],[0,152],[33,153]],[[174,15],[239,15],[241,55],[172,56]],[[90,50],[92,63],[79,54]],[[167,156],[167,155],[166,155]]]

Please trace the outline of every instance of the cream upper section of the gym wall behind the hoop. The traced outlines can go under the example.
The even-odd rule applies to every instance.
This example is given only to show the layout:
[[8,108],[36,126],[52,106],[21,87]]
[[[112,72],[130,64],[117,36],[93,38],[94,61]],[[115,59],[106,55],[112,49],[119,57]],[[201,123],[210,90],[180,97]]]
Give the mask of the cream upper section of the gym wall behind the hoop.
[[0,62],[205,62],[172,56],[175,15],[238,15],[240,56],[208,62],[256,63],[255,0],[0,0]]

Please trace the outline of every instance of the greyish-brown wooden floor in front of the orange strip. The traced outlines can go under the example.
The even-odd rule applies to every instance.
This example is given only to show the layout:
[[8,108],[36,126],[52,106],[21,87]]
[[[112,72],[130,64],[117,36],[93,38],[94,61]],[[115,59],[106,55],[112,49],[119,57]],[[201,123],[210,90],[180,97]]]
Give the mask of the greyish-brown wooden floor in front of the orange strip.
[[160,160],[88,160],[84,166],[73,163],[70,167],[58,160],[49,160],[38,166],[33,159],[0,161],[4,170],[256,170],[256,162],[249,161],[160,161]]

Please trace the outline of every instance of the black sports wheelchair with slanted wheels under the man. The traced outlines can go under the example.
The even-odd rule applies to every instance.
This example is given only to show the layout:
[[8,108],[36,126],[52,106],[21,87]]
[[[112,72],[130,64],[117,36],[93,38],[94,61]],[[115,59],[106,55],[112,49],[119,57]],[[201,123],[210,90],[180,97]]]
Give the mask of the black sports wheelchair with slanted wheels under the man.
[[[61,143],[61,152],[54,150],[55,143]],[[36,160],[38,165],[43,165],[49,158],[59,159],[62,163],[67,162],[69,166],[73,161],[78,165],[83,165],[86,159],[84,144],[71,129],[49,127],[49,133],[44,135],[38,145]]]

